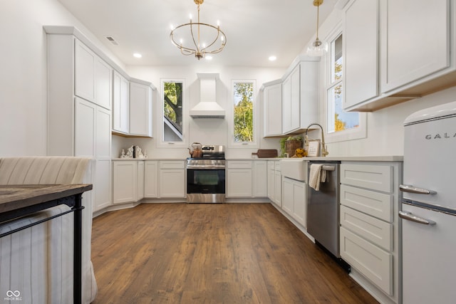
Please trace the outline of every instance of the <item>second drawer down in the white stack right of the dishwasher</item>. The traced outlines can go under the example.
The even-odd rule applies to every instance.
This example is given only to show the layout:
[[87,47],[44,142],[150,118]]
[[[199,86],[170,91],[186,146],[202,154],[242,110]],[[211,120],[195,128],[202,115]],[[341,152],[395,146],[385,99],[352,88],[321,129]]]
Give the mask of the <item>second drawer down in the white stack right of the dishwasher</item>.
[[393,195],[341,184],[341,204],[375,216],[383,221],[393,221]]

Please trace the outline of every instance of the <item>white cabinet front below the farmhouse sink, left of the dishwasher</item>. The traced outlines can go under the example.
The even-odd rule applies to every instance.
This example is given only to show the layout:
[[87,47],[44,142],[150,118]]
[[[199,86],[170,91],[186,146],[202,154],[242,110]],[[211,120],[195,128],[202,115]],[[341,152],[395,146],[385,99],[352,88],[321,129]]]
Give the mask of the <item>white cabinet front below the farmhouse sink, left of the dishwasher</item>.
[[306,227],[306,183],[284,177],[282,184],[282,209]]

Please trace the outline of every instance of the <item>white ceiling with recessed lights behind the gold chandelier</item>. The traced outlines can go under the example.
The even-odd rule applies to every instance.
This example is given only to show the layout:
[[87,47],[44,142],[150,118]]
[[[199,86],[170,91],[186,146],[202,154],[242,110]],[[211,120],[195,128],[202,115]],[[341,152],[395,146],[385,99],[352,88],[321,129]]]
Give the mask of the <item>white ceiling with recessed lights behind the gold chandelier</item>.
[[[182,56],[170,41],[170,25],[197,19],[193,0],[58,0],[125,65],[288,67],[316,32],[313,0],[205,0],[200,21],[217,24],[227,45],[212,61]],[[337,0],[320,6],[320,24]],[[118,45],[108,41],[115,39]],[[142,58],[133,57],[133,53]],[[269,56],[276,61],[268,60]]]

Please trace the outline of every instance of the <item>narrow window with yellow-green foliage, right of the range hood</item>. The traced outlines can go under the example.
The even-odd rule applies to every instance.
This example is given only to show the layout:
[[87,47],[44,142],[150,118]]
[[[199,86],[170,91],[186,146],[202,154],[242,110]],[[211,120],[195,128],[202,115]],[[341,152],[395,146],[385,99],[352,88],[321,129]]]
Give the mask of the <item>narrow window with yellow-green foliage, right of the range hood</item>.
[[[233,92],[233,121],[232,142],[233,146],[256,145],[256,107],[254,96],[256,94],[254,80],[234,80]],[[239,147],[239,146],[238,146]]]

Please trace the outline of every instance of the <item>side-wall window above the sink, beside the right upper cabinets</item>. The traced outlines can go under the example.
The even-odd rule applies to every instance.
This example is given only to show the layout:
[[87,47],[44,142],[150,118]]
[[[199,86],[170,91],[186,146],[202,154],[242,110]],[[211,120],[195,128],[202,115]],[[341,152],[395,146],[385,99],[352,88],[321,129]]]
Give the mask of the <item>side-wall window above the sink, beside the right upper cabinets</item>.
[[343,110],[343,35],[333,36],[328,52],[326,85],[326,142],[339,142],[366,137],[366,114]]

